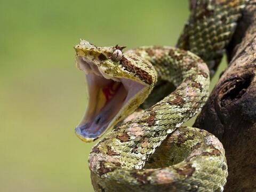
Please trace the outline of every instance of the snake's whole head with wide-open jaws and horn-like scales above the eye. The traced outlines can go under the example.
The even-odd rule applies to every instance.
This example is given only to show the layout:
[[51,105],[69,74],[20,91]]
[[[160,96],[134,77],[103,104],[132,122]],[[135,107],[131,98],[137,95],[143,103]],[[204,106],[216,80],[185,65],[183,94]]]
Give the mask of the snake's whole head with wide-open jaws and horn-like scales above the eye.
[[148,97],[156,71],[124,47],[98,47],[83,39],[75,46],[77,67],[86,74],[89,103],[75,129],[85,142],[98,139],[130,115]]

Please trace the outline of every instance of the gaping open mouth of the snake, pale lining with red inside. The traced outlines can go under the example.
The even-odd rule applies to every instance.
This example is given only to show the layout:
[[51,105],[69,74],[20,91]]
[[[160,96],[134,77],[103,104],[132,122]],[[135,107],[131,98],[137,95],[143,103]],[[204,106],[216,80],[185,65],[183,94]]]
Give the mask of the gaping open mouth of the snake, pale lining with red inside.
[[99,138],[115,121],[120,121],[124,106],[145,85],[126,78],[111,77],[103,73],[93,61],[77,56],[77,66],[86,74],[89,103],[85,115],[76,127],[83,141]]

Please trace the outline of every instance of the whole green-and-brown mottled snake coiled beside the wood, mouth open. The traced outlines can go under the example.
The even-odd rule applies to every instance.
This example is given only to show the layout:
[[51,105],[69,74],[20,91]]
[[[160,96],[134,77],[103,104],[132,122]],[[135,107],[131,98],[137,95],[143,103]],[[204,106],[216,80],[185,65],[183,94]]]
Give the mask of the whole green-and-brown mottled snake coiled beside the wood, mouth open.
[[[221,142],[182,124],[206,102],[212,71],[247,2],[191,1],[176,47],[124,51],[124,46],[96,46],[84,39],[75,46],[89,93],[75,133],[92,142],[111,130],[89,155],[95,191],[224,190],[228,167]],[[175,90],[166,95],[159,82]],[[149,107],[140,107],[150,97]]]

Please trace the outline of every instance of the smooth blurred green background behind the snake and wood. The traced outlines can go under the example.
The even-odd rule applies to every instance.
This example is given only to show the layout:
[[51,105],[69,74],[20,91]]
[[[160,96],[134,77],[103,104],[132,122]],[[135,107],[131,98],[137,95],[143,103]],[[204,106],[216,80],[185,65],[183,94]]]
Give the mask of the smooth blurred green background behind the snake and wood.
[[174,46],[188,7],[167,0],[0,1],[0,191],[93,191],[87,157],[95,143],[74,134],[87,95],[73,46],[79,38],[128,49]]

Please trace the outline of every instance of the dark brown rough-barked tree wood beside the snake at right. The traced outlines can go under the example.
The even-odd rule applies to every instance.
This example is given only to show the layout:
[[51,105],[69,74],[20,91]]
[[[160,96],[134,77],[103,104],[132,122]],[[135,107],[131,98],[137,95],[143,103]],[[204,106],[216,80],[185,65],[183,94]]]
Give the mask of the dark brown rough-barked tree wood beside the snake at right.
[[256,191],[256,0],[247,5],[227,55],[229,67],[194,126],[213,133],[225,147],[225,191]]

